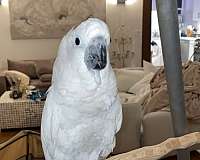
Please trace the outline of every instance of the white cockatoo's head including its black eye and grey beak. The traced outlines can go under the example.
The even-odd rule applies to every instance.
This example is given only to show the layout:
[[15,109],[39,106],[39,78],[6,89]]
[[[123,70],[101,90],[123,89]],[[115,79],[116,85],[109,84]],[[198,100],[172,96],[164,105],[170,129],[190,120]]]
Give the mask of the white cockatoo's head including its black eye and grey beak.
[[84,60],[82,61],[83,65],[88,70],[102,70],[109,63],[107,51],[110,44],[110,34],[103,21],[89,18],[74,27],[67,37],[70,39],[73,50],[81,54],[74,58]]

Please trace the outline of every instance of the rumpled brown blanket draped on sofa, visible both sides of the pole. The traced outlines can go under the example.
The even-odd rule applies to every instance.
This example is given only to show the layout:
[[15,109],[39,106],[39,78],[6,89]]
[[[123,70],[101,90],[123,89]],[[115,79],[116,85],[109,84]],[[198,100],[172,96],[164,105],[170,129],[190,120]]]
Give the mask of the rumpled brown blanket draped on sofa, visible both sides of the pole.
[[[189,120],[200,119],[200,63],[187,62],[182,67],[186,115]],[[158,110],[169,111],[169,97],[164,67],[150,82],[151,92],[143,105],[144,114]],[[179,97],[177,97],[179,98]]]

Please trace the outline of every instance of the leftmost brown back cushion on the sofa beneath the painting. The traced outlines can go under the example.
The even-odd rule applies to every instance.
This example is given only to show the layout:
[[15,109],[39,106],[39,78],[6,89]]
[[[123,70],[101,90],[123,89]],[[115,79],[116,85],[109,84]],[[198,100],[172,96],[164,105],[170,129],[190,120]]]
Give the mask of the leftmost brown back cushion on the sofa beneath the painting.
[[31,79],[36,79],[37,74],[35,70],[35,64],[31,61],[8,61],[8,70],[16,70],[28,75]]

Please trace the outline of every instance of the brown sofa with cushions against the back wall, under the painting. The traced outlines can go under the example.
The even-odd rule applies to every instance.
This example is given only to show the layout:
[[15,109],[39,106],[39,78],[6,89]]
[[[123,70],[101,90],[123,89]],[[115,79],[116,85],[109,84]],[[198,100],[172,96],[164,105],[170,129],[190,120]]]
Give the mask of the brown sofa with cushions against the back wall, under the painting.
[[[8,71],[19,71],[29,77],[30,85],[36,86],[41,91],[46,91],[51,85],[53,59],[47,60],[7,60]],[[6,75],[10,73],[3,71],[0,73],[0,96],[10,89]]]

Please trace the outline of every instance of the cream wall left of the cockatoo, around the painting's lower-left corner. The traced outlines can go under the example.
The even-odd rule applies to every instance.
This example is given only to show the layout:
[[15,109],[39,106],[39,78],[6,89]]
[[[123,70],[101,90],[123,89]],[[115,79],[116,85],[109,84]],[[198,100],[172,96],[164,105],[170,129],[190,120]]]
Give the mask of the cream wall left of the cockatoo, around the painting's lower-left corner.
[[49,59],[57,54],[59,39],[11,40],[9,9],[0,6],[0,70],[7,59]]

